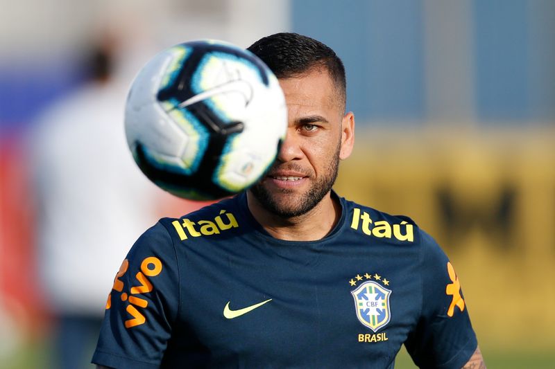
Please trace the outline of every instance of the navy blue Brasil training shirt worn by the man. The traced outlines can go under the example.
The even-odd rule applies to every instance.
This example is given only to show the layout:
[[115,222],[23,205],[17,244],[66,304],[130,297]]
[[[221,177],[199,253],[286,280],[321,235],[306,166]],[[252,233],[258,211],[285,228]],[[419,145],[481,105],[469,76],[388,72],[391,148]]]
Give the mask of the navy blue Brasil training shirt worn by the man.
[[133,245],[93,362],[112,368],[461,368],[477,348],[459,279],[432,237],[336,197],[322,240],[278,240],[243,193],[161,219]]

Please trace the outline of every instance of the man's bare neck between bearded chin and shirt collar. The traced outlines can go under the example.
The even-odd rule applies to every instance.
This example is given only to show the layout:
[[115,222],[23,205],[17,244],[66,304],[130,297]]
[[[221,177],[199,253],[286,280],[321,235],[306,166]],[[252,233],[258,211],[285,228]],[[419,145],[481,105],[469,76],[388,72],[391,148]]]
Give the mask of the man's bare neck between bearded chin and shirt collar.
[[250,191],[247,192],[248,209],[253,217],[272,237],[286,241],[321,240],[330,233],[341,217],[341,204],[331,192],[309,210],[297,217],[281,217],[269,212]]

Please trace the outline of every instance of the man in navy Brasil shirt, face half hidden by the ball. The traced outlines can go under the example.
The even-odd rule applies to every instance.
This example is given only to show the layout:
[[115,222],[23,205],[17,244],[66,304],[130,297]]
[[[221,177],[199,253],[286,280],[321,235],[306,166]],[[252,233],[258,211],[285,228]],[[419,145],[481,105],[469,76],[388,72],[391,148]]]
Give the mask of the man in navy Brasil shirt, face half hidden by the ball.
[[332,191],[354,143],[345,71],[293,33],[250,51],[280,79],[287,139],[245,193],[161,219],[123,262],[93,358],[113,368],[484,366],[459,280],[406,217]]

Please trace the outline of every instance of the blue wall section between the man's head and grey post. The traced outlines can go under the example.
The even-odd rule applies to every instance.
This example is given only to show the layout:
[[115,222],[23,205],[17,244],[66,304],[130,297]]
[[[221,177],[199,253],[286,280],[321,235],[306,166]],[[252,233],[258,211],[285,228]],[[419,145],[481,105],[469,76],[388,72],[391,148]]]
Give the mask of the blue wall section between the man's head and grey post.
[[292,1],[291,20],[341,57],[359,122],[425,117],[420,1]]

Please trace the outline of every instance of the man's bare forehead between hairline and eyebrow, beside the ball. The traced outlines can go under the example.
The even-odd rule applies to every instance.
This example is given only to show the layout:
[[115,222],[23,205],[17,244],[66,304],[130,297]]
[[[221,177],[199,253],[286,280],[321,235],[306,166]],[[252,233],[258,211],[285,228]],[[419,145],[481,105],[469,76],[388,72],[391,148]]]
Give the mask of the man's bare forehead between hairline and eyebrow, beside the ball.
[[289,109],[339,109],[339,98],[326,69],[312,69],[297,77],[281,78],[280,86]]

